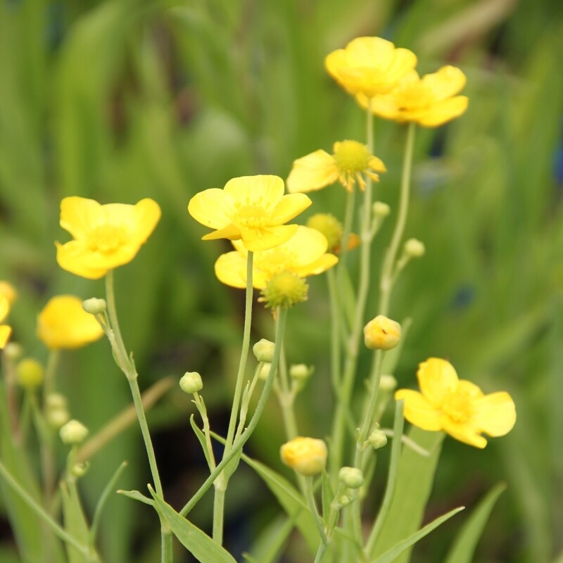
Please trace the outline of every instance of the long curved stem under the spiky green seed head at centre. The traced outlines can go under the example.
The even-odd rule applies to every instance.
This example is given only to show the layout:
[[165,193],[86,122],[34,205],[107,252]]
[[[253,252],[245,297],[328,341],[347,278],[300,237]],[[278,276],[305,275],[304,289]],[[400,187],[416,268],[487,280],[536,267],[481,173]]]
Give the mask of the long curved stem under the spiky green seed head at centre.
[[277,317],[278,317],[278,322],[277,322],[277,331],[276,331],[276,346],[274,348],[274,358],[272,358],[272,369],[270,369],[270,374],[268,374],[268,377],[264,384],[264,388],[262,388],[262,394],[260,395],[260,399],[258,399],[258,405],[256,405],[256,410],[254,411],[251,421],[248,423],[246,430],[243,431],[241,436],[239,438],[236,438],[236,440],[232,445],[231,450],[229,450],[229,453],[226,453],[223,456],[221,462],[217,464],[217,467],[215,467],[215,470],[211,472],[210,476],[208,476],[208,478],[205,479],[203,485],[201,485],[201,487],[198,488],[198,491],[196,491],[196,493],[191,497],[191,499],[188,502],[186,502],[186,505],[184,505],[182,510],[179,512],[179,514],[182,514],[182,516],[184,517],[198,503],[201,497],[203,497],[203,495],[208,491],[208,488],[210,488],[210,486],[213,484],[213,481],[215,481],[217,475],[219,475],[224,469],[224,467],[226,467],[227,464],[234,458],[234,456],[241,451],[243,445],[246,443],[246,441],[248,441],[248,438],[251,437],[251,434],[253,433],[254,429],[258,425],[258,421],[262,416],[262,412],[264,412],[267,398],[270,395],[270,391],[272,390],[272,385],[274,383],[274,375],[276,371],[274,367],[277,366],[277,362],[279,361],[279,353],[281,346],[283,344],[284,331],[286,327],[287,310],[279,310],[277,312]]

